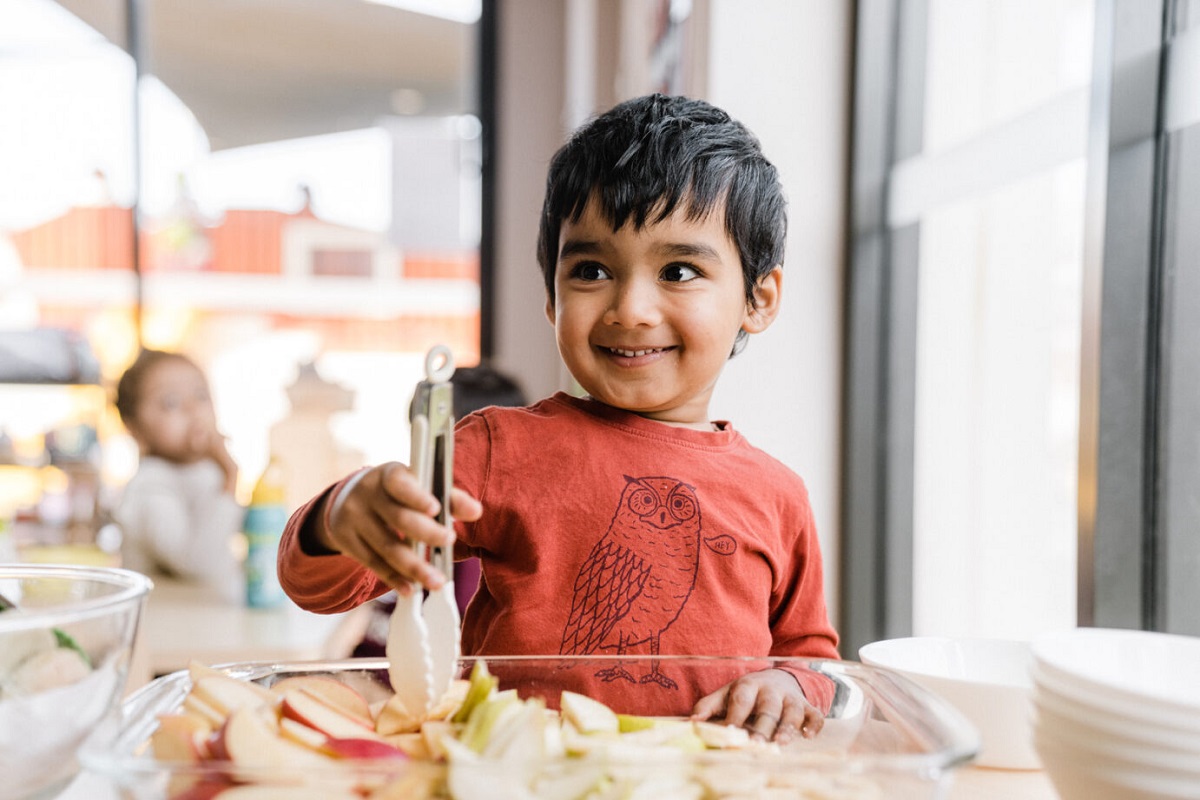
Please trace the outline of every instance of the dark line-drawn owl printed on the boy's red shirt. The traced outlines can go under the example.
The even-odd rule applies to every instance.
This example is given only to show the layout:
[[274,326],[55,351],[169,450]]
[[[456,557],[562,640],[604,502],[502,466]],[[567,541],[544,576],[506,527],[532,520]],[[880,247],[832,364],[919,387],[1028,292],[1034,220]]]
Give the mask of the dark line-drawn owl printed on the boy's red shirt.
[[[658,656],[664,632],[696,588],[702,546],[720,555],[737,549],[732,536],[704,539],[695,487],[673,477],[626,475],[612,522],[575,579],[559,652],[624,655],[648,645]],[[656,660],[641,678],[619,664],[596,676],[676,688]]]

